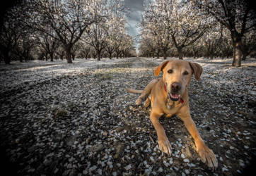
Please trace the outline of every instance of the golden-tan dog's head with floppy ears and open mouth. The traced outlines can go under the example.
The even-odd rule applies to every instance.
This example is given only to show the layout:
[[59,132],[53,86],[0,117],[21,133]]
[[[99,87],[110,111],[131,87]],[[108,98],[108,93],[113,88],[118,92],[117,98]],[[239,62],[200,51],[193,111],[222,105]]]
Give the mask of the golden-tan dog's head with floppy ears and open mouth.
[[155,70],[155,76],[163,71],[163,82],[172,101],[178,101],[185,92],[185,88],[190,84],[192,75],[196,80],[200,80],[202,67],[198,63],[173,60],[165,61]]

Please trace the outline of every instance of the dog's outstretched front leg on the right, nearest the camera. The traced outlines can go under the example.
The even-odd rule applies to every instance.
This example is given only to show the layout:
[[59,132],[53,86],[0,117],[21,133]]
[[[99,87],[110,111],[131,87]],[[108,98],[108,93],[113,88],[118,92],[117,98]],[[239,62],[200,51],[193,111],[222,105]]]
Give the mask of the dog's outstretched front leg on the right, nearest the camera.
[[197,152],[199,153],[202,162],[206,163],[209,168],[217,168],[218,161],[216,159],[216,156],[214,155],[214,152],[211,149],[209,149],[208,146],[206,146],[206,144],[204,144],[204,141],[200,136],[199,132],[197,131],[197,127],[191,118],[189,108],[181,108],[180,112],[182,113],[178,113],[178,116],[184,122],[187,131],[190,132],[190,134],[192,135],[194,143],[196,144],[197,147]]

